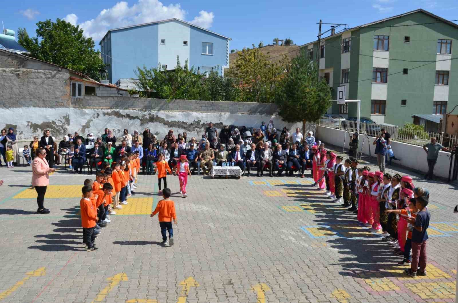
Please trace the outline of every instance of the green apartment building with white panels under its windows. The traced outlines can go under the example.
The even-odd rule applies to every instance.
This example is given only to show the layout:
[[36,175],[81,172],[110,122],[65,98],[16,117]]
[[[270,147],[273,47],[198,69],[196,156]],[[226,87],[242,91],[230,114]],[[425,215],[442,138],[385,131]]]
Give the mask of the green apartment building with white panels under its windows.
[[[402,126],[413,114],[445,114],[458,103],[458,25],[419,9],[305,44],[337,99],[361,100],[361,117]],[[455,54],[455,55],[453,55]],[[356,103],[328,112],[356,116]]]

